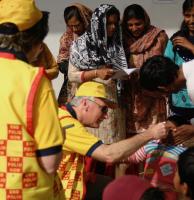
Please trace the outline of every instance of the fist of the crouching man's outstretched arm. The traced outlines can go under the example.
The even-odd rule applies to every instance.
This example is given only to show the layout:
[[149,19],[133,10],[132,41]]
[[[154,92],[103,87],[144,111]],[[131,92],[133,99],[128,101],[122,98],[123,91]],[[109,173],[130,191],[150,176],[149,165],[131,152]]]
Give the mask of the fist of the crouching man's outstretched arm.
[[149,134],[152,134],[153,139],[155,140],[166,138],[167,136],[166,122],[161,122],[156,125],[151,125],[147,129],[147,132]]

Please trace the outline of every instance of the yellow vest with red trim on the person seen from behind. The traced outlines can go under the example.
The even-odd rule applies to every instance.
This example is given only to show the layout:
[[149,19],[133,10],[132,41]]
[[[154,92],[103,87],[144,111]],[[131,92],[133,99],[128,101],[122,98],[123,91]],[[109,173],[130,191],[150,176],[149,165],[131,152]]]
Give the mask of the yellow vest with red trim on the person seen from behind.
[[0,199],[52,200],[54,175],[36,158],[33,109],[43,68],[0,52]]

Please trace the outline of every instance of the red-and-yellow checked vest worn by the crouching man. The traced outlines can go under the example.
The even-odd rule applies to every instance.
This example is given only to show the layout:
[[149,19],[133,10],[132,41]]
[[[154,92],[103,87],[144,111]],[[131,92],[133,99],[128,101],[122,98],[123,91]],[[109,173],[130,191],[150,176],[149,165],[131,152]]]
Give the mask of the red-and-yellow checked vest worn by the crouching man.
[[[62,113],[63,114],[62,114]],[[62,117],[60,116],[62,114]],[[70,113],[66,110],[65,107],[63,109],[59,109],[59,119],[66,119],[66,125],[74,124],[75,127],[79,127],[79,122],[74,119]],[[71,134],[66,132],[66,141],[69,143],[69,137]],[[76,131],[79,132],[79,129]],[[75,147],[76,149],[76,147]],[[63,146],[63,158],[58,168],[58,175],[61,179],[64,195],[66,200],[81,200],[84,199],[86,193],[86,186],[84,183],[84,156],[80,155],[79,153],[75,153],[70,149],[67,150]]]

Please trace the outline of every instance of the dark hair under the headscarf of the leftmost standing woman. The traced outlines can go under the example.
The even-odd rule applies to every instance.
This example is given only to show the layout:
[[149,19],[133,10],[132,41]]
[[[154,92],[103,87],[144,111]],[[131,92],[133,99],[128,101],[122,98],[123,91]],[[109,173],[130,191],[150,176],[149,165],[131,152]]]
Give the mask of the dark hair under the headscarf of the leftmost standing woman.
[[76,6],[69,6],[64,10],[64,20],[66,24],[72,17],[76,17],[80,22],[83,22],[79,9]]

